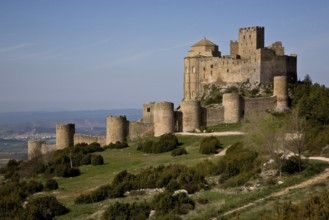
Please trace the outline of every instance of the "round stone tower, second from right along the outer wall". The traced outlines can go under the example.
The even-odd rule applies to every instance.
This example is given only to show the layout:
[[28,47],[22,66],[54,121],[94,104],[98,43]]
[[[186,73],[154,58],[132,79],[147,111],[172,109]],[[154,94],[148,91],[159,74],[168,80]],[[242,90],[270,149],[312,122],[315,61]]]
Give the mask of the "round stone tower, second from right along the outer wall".
[[238,123],[241,119],[241,101],[238,93],[223,94],[224,123]]

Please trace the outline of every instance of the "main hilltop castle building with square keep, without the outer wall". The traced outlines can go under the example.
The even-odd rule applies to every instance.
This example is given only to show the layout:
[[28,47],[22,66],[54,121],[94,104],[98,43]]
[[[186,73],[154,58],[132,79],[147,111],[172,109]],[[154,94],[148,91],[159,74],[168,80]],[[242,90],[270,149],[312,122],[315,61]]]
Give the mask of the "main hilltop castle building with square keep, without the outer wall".
[[239,40],[230,42],[230,55],[206,38],[191,47],[184,59],[184,99],[199,99],[204,86],[242,82],[273,83],[274,76],[297,80],[297,56],[284,55],[280,41],[264,47],[264,27],[240,28]]

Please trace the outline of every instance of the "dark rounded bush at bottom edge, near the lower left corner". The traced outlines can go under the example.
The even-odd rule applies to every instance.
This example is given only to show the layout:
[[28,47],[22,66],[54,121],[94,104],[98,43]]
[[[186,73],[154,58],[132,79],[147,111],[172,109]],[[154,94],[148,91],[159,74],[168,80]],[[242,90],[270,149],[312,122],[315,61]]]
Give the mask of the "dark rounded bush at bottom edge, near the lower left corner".
[[53,196],[32,198],[26,205],[27,219],[54,219],[68,212]]

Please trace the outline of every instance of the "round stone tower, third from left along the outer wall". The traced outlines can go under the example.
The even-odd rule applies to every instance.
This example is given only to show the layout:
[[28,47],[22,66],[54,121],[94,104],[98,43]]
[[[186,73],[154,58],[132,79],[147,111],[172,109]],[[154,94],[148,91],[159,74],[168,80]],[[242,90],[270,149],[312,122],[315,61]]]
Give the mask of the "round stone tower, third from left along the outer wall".
[[106,144],[126,142],[127,119],[126,116],[107,116],[106,119]]

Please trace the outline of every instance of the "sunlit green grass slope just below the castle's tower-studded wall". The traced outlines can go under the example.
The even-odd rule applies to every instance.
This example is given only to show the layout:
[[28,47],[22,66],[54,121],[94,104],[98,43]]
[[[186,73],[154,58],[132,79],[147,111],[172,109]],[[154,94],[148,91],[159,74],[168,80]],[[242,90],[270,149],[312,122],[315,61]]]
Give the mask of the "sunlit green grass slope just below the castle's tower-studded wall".
[[[170,152],[161,154],[147,154],[137,151],[135,143],[124,149],[109,149],[104,152],[98,152],[104,158],[102,166],[81,166],[81,175],[74,178],[59,178],[60,189],[56,194],[65,205],[73,206],[77,195],[95,189],[101,185],[111,183],[114,176],[122,170],[131,173],[138,173],[141,169],[158,166],[161,164],[181,163],[192,166],[204,159],[214,159],[214,155],[202,155],[199,153],[199,145],[204,137],[200,136],[181,136],[178,140],[185,147],[188,154],[179,157],[173,157]],[[224,147],[241,140],[241,136],[220,137]]]

